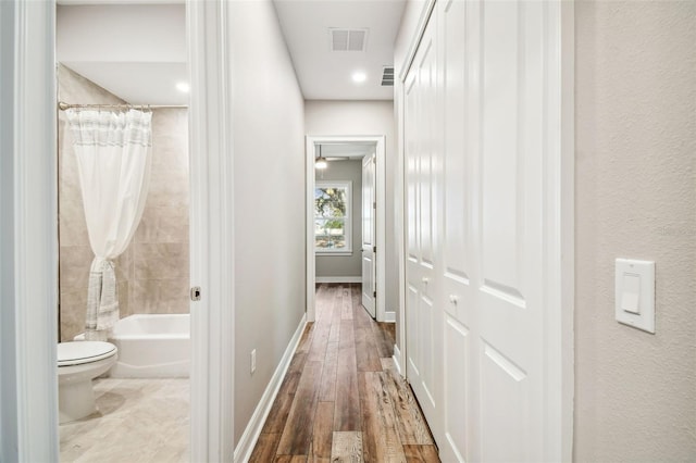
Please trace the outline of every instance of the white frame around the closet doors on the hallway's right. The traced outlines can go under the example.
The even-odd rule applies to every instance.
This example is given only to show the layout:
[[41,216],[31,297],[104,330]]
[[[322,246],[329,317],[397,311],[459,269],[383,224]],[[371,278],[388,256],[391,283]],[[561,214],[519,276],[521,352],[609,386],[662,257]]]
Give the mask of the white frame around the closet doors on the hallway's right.
[[[399,278],[400,322],[398,342],[395,346],[395,360],[400,373],[406,376],[407,326],[406,326],[406,178],[405,135],[403,135],[403,98],[405,80],[415,58],[419,45],[434,11],[440,0],[425,0],[418,15],[418,24],[411,30],[411,38],[399,70],[399,78],[395,83],[395,108],[398,142],[398,188],[397,207],[399,208],[401,232],[399,235],[398,260],[401,277]],[[548,425],[545,455],[549,461],[572,461],[573,454],[573,397],[574,378],[574,301],[575,301],[575,14],[573,2],[552,2],[554,16],[558,20],[551,28],[559,43],[556,49],[554,68],[558,70],[558,99],[546,104],[549,113],[558,121],[558,133],[549,137],[549,145],[558,148],[558,159],[549,161],[549,172],[545,178],[548,192],[547,203],[552,205],[554,214],[546,227],[548,234],[547,249],[549,258],[545,261],[547,273],[554,275],[547,288],[546,300],[558,311],[546,312],[546,324],[551,329],[545,333],[546,342],[551,349],[546,353],[546,385],[550,386],[547,396],[554,406],[549,406],[545,420]],[[408,379],[408,378],[407,378]],[[556,386],[556,387],[554,387]]]

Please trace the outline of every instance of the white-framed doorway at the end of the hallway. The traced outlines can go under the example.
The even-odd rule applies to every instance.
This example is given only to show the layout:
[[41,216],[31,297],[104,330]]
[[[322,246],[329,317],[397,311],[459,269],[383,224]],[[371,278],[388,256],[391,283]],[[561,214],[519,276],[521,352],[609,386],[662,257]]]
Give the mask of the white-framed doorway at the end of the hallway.
[[[321,150],[321,153],[320,153]],[[385,318],[385,137],[307,137],[307,320],[313,322],[316,315],[315,285],[316,283],[361,283],[366,296],[362,295],[363,305],[376,321]],[[322,174],[315,168],[318,158],[326,160],[330,168]],[[334,178],[330,175],[332,163],[353,160],[359,168],[360,189],[356,182]],[[319,172],[319,174],[318,174]],[[324,178],[322,178],[322,176]],[[366,183],[365,183],[366,180]],[[334,227],[326,226],[331,221],[327,216],[316,215],[316,191],[335,195],[334,188],[345,188],[341,195],[350,195],[352,202],[349,208],[355,211],[348,214],[350,230],[345,229],[344,220],[334,221]],[[357,191],[356,191],[357,190]],[[350,193],[348,192],[350,191]],[[365,199],[366,198],[366,199]],[[326,197],[326,201],[328,201]],[[366,213],[365,213],[366,209]],[[358,215],[359,222],[358,221]],[[337,223],[340,222],[340,223]],[[363,230],[368,230],[364,233]],[[346,235],[346,232],[350,236]],[[337,239],[334,239],[337,238]],[[357,271],[353,275],[327,275],[325,268],[330,259],[345,262],[353,261]],[[318,263],[319,262],[319,263]],[[334,264],[337,265],[337,264]],[[318,270],[322,275],[318,276]],[[335,273],[335,272],[334,272]],[[346,278],[349,277],[349,278]],[[355,280],[355,281],[353,281]],[[364,292],[363,291],[363,292]]]

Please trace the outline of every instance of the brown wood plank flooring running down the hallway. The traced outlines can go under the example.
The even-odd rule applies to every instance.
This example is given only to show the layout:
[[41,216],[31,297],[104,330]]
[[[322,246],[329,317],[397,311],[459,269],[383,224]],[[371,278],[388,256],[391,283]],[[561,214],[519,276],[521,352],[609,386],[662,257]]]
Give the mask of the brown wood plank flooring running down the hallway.
[[359,284],[322,284],[250,461],[439,462],[391,360],[394,324],[360,304]]

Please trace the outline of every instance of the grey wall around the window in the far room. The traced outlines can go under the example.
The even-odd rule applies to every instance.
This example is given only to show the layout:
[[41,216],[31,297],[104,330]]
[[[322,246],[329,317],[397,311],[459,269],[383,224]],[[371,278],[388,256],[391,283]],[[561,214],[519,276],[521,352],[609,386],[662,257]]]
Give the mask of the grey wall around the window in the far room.
[[360,277],[362,274],[362,161],[331,161],[326,168],[316,170],[316,182],[343,180],[352,183],[350,218],[352,252],[345,255],[316,253],[316,277]]

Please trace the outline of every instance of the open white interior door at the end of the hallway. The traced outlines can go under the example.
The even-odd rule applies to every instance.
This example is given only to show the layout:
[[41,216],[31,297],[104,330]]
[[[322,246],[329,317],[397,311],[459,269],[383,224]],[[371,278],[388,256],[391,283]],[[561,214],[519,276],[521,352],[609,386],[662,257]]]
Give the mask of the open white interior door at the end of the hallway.
[[376,246],[375,246],[375,155],[362,160],[362,305],[375,317]]

